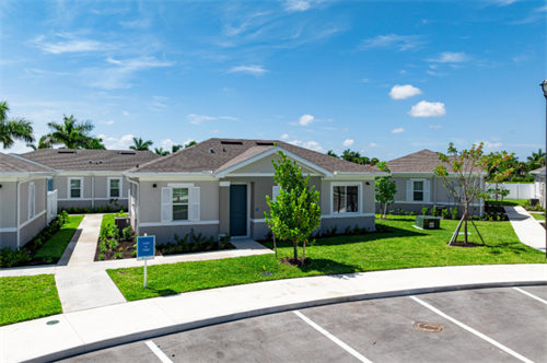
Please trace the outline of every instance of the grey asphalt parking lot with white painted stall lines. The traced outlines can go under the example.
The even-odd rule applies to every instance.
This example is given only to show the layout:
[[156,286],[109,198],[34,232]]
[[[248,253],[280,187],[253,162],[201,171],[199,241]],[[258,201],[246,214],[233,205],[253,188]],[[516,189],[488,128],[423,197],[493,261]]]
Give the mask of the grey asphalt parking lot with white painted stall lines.
[[[427,323],[424,328],[434,332],[419,330],[417,323]],[[147,339],[62,362],[441,361],[547,362],[547,286],[312,307]]]

